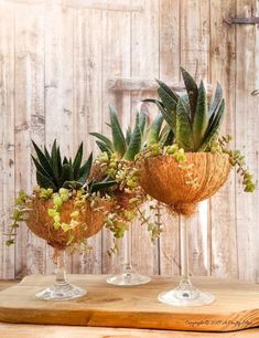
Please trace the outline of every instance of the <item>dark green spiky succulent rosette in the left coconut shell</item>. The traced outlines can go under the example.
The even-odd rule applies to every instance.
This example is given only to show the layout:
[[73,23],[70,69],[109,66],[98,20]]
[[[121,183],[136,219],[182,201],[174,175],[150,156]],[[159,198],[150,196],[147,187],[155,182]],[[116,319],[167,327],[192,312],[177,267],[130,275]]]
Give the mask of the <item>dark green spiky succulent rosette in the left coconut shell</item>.
[[32,156],[36,168],[36,181],[41,188],[52,189],[53,192],[60,191],[61,188],[79,189],[87,188],[90,192],[106,189],[115,182],[105,178],[101,182],[88,182],[93,163],[93,154],[82,165],[83,142],[79,145],[74,159],[61,157],[60,147],[54,140],[51,151],[44,147],[42,151],[37,145],[32,141],[36,157]]

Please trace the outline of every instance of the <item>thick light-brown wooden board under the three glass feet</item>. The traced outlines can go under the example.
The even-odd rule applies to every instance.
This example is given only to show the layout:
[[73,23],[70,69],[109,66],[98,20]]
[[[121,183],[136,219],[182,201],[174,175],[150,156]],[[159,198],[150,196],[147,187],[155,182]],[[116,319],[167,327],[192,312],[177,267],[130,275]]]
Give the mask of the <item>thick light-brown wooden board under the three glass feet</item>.
[[0,293],[0,321],[233,331],[259,326],[259,286],[240,282],[195,278],[195,285],[215,294],[209,306],[173,307],[158,294],[176,286],[170,277],[154,277],[138,287],[108,285],[105,275],[71,275],[88,293],[72,302],[44,302],[35,293],[53,283],[53,276],[32,275]]

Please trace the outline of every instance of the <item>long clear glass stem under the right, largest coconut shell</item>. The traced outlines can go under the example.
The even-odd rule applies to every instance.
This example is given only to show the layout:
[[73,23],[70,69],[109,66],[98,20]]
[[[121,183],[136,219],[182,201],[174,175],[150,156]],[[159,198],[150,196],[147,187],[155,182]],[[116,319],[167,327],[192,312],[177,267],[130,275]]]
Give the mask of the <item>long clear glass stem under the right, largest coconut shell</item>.
[[187,224],[180,219],[180,249],[181,249],[181,282],[180,286],[192,285],[188,275],[188,232]]

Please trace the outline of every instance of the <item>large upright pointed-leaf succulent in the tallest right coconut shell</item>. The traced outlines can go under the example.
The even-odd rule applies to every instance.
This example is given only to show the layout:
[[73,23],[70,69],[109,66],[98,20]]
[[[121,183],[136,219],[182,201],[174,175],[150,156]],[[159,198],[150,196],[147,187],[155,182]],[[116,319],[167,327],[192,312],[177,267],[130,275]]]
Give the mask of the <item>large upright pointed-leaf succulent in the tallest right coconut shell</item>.
[[196,84],[194,78],[181,68],[186,95],[180,96],[165,83],[159,83],[160,99],[145,99],[155,103],[171,128],[174,140],[185,151],[211,151],[213,140],[218,136],[225,102],[219,84],[212,104],[208,103],[204,82]]

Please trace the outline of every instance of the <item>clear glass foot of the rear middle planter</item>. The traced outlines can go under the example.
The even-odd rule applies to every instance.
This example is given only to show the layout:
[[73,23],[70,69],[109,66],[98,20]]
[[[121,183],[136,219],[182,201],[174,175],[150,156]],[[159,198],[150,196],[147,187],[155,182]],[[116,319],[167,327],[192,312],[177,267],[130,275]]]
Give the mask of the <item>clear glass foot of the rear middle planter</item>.
[[125,271],[117,275],[111,275],[106,279],[108,284],[121,286],[141,285],[149,283],[150,281],[150,277],[139,275],[133,270]]

